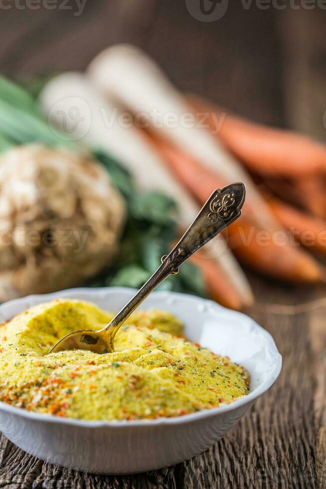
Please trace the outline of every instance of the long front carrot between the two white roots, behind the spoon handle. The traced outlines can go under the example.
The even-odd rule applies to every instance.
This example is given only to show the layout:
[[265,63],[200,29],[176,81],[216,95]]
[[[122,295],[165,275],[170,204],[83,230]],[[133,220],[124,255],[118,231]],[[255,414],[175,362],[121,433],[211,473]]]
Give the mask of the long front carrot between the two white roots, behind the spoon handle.
[[[166,164],[199,202],[225,182],[171,145],[156,141]],[[256,270],[288,281],[318,282],[324,279],[319,263],[306,251],[289,243],[279,227],[267,230],[257,225],[248,205],[236,223],[228,227],[228,244],[235,255]]]

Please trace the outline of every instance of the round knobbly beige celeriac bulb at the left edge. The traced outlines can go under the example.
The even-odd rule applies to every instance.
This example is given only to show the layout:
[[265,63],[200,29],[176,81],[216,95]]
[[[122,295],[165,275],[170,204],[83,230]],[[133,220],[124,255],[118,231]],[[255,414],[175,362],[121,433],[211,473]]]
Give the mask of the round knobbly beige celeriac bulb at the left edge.
[[0,158],[0,300],[80,285],[116,256],[125,202],[89,155],[41,144]]

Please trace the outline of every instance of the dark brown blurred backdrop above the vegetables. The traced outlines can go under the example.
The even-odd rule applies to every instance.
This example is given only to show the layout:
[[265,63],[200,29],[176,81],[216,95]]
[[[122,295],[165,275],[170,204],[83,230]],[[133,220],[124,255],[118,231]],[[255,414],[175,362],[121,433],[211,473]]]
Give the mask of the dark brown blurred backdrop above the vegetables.
[[318,6],[298,8],[297,0],[295,8],[280,2],[281,10],[260,9],[254,1],[246,8],[229,1],[222,18],[202,22],[185,1],[93,0],[83,8],[69,0],[21,10],[8,4],[0,15],[0,63],[10,77],[81,70],[105,47],[131,42],[182,90],[325,138],[326,11]]

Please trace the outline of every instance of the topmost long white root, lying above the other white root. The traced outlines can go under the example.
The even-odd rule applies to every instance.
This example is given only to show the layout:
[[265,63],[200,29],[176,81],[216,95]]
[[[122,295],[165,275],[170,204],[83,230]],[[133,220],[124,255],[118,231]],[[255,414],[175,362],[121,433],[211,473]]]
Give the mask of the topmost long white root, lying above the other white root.
[[244,182],[248,190],[246,204],[251,206],[257,223],[276,226],[248,173],[206,128],[190,121],[192,108],[145,52],[127,44],[109,47],[95,57],[88,73],[104,93],[119,100],[134,116],[140,120],[146,117],[160,137],[218,172],[227,182]]

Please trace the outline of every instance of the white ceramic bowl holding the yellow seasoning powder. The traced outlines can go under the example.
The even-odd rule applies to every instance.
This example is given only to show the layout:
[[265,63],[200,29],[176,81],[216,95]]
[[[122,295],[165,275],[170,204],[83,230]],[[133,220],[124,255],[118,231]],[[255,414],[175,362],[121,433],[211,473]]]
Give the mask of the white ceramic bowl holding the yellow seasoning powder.
[[[0,306],[0,321],[56,297],[95,302],[117,311],[134,293],[123,287],[76,288],[30,295]],[[250,317],[210,300],[154,292],[141,308],[170,311],[186,336],[228,355],[250,374],[250,393],[229,405],[176,418],[144,421],[78,421],[30,413],[0,402],[0,431],[22,450],[51,463],[96,474],[133,474],[190,459],[239,421],[277,379],[282,365],[272,336]]]

